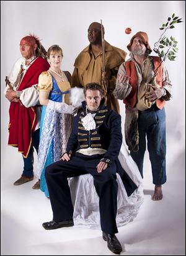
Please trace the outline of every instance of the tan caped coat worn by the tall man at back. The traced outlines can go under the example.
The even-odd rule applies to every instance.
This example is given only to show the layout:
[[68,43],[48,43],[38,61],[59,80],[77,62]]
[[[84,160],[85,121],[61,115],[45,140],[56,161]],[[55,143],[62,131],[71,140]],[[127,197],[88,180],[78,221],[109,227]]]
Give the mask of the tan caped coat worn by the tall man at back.
[[[113,96],[116,85],[117,72],[120,65],[125,61],[126,52],[120,48],[113,47],[105,41],[105,77],[107,78],[107,107],[120,112],[118,99]],[[91,44],[84,48],[74,63],[73,87],[84,87],[87,83],[102,84],[102,52],[94,58]],[[104,88],[104,86],[103,86]],[[105,91],[105,90],[104,90]]]

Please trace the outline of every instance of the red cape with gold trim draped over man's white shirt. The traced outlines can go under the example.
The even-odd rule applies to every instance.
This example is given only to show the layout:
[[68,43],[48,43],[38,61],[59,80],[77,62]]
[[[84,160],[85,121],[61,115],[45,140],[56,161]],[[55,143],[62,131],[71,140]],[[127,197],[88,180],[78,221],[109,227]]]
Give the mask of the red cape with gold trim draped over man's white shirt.
[[[38,57],[24,75],[19,91],[38,84],[38,77],[43,71],[50,67],[47,60]],[[27,157],[30,145],[32,144],[32,134],[37,124],[36,106],[25,107],[20,103],[11,103],[9,108],[9,141],[8,145],[18,147],[18,151],[23,157]]]

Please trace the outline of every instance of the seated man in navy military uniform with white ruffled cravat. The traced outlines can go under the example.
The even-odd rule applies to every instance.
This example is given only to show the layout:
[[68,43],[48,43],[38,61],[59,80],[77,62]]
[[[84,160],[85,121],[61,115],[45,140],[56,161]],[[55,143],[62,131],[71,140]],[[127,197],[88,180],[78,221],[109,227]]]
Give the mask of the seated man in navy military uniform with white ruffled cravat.
[[118,233],[117,171],[122,176],[128,196],[137,186],[118,161],[122,145],[121,116],[104,105],[103,93],[97,83],[85,86],[86,101],[82,102],[82,112],[74,117],[66,153],[46,169],[53,221],[43,223],[43,227],[51,230],[74,225],[68,178],[90,173],[99,196],[102,237],[109,250],[120,254],[122,245],[115,236]]

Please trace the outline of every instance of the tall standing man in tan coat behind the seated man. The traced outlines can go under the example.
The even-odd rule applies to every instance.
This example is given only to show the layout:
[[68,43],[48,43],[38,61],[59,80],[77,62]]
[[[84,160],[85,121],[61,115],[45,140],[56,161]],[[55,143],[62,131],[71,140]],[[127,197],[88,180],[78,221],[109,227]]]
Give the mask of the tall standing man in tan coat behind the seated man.
[[[84,87],[87,83],[99,83],[104,88],[106,105],[120,112],[118,99],[113,96],[118,68],[126,57],[126,52],[105,42],[105,73],[103,75],[101,24],[93,22],[88,29],[88,45],[74,63],[73,87]],[[105,82],[105,83],[104,83]],[[107,83],[107,89],[104,84]]]

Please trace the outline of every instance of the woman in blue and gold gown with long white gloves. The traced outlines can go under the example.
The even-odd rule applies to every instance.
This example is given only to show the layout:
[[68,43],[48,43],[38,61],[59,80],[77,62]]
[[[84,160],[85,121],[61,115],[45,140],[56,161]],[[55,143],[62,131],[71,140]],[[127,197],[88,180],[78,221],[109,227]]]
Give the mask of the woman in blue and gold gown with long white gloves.
[[45,180],[45,168],[60,160],[65,152],[71,132],[74,107],[69,103],[71,74],[68,71],[61,71],[60,68],[62,49],[58,45],[52,45],[48,49],[47,58],[50,68],[41,73],[38,81],[39,99],[43,107],[36,172],[40,181],[34,186],[50,197]]

